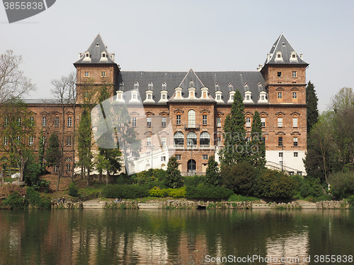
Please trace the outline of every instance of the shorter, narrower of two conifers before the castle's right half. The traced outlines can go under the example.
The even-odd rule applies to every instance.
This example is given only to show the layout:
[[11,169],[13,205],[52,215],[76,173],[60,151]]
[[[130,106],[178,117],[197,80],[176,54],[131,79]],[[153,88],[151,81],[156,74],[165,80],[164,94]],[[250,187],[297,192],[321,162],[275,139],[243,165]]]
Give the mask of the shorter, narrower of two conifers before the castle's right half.
[[265,166],[265,144],[262,140],[262,135],[261,116],[256,111],[253,115],[251,141],[248,148],[250,151],[250,162],[254,167]]

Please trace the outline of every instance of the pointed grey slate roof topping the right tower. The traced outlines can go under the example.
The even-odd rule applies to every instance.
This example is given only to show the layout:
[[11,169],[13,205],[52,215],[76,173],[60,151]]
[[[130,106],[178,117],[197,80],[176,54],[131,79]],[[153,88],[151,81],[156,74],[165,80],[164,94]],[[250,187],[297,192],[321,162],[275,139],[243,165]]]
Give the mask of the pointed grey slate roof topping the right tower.
[[265,60],[264,64],[307,64],[306,61],[302,59],[295,52],[295,49],[290,45],[287,38],[281,34],[278,40],[275,41],[273,47],[270,49],[268,58]]

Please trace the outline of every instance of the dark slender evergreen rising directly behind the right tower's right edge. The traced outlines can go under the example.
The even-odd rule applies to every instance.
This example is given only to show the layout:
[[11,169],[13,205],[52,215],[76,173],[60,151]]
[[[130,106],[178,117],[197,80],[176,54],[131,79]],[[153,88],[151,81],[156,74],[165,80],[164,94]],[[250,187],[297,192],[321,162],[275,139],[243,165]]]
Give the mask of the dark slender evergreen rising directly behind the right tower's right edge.
[[314,84],[309,81],[306,87],[306,105],[307,105],[307,134],[311,131],[314,124],[319,119],[319,110],[317,109],[319,99],[314,90]]

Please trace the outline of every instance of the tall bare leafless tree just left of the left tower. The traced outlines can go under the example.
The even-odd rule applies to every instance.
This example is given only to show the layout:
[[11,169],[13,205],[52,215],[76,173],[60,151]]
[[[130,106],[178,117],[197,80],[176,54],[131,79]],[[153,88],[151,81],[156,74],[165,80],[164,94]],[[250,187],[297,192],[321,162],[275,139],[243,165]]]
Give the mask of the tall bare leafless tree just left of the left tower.
[[[71,124],[69,124],[69,121],[66,122],[65,118],[69,117],[67,115],[67,112],[68,112],[69,108],[72,106],[72,101],[73,101],[72,86],[75,86],[74,80],[75,79],[72,77],[72,74],[70,74],[69,76],[62,76],[62,78],[60,78],[60,79],[52,80],[52,85],[54,88],[52,88],[51,92],[52,92],[52,95],[54,96],[54,98],[57,100],[57,104],[59,105],[59,107],[62,110],[62,128],[61,128],[62,131],[61,131],[59,143],[60,143],[60,149],[61,149],[61,152],[63,155],[62,155],[62,158],[59,163],[57,191],[59,190],[60,178],[62,176],[64,176],[64,158],[65,158],[64,153],[66,153],[66,151],[67,151],[67,146],[72,145],[72,138],[74,138],[74,137],[71,138],[71,140],[70,140],[71,143],[69,143],[69,141],[67,141],[67,139],[65,138],[66,136],[70,137],[66,134],[66,131],[65,131],[66,126],[65,125],[67,124],[67,125],[72,126],[72,121],[71,121]],[[75,124],[75,121],[74,121],[74,124]]]

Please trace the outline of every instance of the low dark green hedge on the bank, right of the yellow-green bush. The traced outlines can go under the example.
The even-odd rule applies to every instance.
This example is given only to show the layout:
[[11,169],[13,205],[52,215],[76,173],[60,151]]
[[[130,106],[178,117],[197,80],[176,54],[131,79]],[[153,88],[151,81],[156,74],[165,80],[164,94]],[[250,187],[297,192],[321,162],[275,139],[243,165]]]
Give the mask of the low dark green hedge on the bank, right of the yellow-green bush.
[[203,184],[186,187],[185,192],[188,199],[227,199],[234,194],[231,189]]

